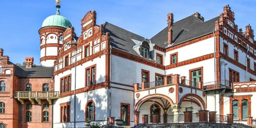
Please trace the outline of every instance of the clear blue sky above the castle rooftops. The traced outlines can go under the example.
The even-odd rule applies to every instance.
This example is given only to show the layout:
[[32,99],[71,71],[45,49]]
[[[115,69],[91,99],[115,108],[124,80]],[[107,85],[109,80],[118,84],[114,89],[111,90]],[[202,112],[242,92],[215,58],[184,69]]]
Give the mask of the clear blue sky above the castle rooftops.
[[[97,24],[104,22],[151,38],[167,26],[166,15],[174,13],[174,22],[194,12],[205,20],[219,16],[229,4],[234,11],[235,22],[245,30],[250,24],[256,28],[256,1],[153,1],[153,0],[62,0],[60,13],[67,17],[80,35],[81,19],[89,10],[96,10]],[[55,14],[54,0],[0,0],[0,47],[14,63],[22,63],[25,57],[34,57],[39,65],[40,45],[38,30],[44,19]],[[256,31],[256,29],[255,29]]]

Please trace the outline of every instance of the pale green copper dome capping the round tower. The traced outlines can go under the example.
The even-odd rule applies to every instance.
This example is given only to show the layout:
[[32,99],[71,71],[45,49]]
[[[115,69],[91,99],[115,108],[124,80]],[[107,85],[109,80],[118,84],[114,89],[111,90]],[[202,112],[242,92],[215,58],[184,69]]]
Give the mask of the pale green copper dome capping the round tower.
[[55,15],[51,15],[44,20],[42,27],[47,26],[58,26],[63,28],[68,28],[68,26],[72,27],[70,21],[66,17],[60,15],[59,9]]

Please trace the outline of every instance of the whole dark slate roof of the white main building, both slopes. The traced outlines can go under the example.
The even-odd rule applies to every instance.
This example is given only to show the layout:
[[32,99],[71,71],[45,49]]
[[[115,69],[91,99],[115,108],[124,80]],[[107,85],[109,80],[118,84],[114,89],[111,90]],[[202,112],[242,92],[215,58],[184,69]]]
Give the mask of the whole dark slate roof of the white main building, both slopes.
[[[175,22],[173,25],[173,42],[172,46],[181,44],[184,41],[203,36],[205,34],[211,33],[215,28],[215,22],[219,20],[219,17],[212,18],[203,22],[201,19],[190,15],[186,18]],[[166,25],[167,26],[167,25]],[[133,46],[136,45],[132,39],[143,41],[145,38],[117,27],[110,23],[105,23],[103,25],[104,33],[110,33],[110,43],[112,48],[121,50],[123,52],[128,52],[133,55],[139,56],[134,50]],[[167,27],[160,31],[158,34],[153,36],[150,40],[153,44],[159,47],[167,47]],[[148,42],[150,40],[146,39]]]

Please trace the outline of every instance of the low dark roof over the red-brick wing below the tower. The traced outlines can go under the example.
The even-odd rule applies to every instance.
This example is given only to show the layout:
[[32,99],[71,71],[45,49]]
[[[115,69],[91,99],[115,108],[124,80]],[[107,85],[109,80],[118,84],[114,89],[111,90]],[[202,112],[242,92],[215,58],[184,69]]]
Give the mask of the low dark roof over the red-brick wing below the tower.
[[23,78],[51,78],[53,71],[53,67],[33,66],[26,68],[26,66],[15,65],[15,75]]

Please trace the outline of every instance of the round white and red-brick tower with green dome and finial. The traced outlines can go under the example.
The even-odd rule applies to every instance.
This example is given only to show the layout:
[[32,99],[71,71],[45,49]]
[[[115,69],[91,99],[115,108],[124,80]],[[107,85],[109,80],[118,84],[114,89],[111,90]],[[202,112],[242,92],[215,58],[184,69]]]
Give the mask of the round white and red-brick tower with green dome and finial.
[[60,15],[59,2],[56,2],[56,8],[56,14],[47,17],[39,29],[40,63],[45,67],[54,66],[58,51],[62,47],[62,34],[68,27],[72,27],[70,21]]

